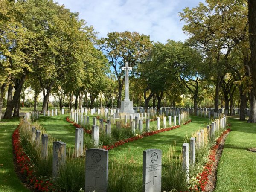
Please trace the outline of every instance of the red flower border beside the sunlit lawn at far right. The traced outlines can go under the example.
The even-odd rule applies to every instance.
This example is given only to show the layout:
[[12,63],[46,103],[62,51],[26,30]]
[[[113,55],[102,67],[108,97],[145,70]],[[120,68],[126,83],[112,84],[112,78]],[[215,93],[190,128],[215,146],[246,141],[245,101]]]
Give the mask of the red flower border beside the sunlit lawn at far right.
[[199,186],[194,186],[195,190],[201,190],[204,191],[207,183],[209,182],[208,176],[212,172],[212,166],[216,161],[216,151],[219,148],[219,144],[221,143],[221,140],[223,136],[231,131],[230,128],[228,128],[226,131],[224,131],[221,136],[217,139],[216,144],[212,147],[212,150],[210,151],[209,160],[204,166],[204,170],[199,173],[197,179],[199,180]]

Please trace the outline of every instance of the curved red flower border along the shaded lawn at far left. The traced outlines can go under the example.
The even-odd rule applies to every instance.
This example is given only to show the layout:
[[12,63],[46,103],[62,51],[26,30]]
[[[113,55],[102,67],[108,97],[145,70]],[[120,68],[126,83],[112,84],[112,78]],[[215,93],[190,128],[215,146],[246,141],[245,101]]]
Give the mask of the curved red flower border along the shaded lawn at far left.
[[49,179],[40,179],[35,175],[35,168],[29,159],[29,157],[24,152],[21,140],[20,140],[20,125],[17,126],[17,129],[12,134],[12,146],[15,156],[15,164],[17,165],[17,170],[23,177],[26,177],[26,182],[32,186],[33,189],[49,192],[55,191],[52,188],[52,181]]

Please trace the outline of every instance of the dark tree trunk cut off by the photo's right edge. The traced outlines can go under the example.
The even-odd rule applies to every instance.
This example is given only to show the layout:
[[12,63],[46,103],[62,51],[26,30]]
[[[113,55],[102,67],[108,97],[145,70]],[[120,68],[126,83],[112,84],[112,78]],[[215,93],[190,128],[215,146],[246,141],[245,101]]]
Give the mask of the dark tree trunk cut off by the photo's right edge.
[[248,122],[256,123],[256,1],[248,0],[249,42],[250,42],[250,75],[253,81],[250,94],[250,117]]

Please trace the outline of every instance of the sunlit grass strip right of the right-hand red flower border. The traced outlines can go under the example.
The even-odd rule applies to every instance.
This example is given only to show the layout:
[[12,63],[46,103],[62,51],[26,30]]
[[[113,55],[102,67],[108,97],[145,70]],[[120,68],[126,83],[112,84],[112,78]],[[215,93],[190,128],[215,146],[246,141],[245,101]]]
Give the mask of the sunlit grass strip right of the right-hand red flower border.
[[232,131],[226,138],[218,165],[216,192],[256,191],[256,124],[228,119]]

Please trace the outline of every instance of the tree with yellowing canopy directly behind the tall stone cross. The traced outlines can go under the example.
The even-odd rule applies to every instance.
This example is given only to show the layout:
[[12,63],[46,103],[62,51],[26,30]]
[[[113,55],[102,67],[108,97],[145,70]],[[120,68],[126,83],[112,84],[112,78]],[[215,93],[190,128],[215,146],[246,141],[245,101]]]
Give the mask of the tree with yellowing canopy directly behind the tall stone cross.
[[[152,47],[148,35],[140,35],[137,32],[111,32],[107,38],[101,38],[98,42],[111,67],[114,68],[119,84],[117,108],[121,105],[122,87],[125,82],[124,72],[121,67],[129,62],[129,67],[136,67],[142,64],[148,56]],[[135,70],[135,69],[134,69]]]

